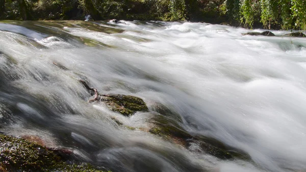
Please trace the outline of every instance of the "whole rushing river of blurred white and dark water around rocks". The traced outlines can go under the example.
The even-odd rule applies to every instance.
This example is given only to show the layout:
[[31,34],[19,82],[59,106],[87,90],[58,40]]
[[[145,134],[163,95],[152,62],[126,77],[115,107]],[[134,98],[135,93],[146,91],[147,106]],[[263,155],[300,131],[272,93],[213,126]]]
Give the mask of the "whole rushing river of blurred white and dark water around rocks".
[[[1,21],[0,131],[39,136],[114,172],[305,171],[306,39],[246,32],[190,22]],[[90,104],[78,79],[141,97],[150,111],[125,117]],[[150,134],[157,105],[189,133],[251,161]]]

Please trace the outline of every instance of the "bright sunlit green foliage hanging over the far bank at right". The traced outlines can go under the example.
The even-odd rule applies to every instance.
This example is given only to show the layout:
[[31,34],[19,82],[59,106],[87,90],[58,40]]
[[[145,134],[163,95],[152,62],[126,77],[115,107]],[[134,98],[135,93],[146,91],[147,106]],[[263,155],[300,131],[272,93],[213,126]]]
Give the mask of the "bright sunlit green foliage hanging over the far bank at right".
[[252,28],[260,12],[260,21],[264,28],[306,29],[306,1],[243,0],[240,5],[240,21],[246,28]]

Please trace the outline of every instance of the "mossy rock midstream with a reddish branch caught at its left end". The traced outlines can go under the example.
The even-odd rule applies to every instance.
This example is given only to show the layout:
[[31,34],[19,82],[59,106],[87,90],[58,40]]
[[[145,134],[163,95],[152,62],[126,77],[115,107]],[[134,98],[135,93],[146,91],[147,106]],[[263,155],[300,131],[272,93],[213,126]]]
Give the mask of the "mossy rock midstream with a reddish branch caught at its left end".
[[101,102],[104,102],[109,109],[119,112],[124,116],[130,116],[137,111],[148,111],[148,107],[142,99],[132,95],[111,94],[101,95]]

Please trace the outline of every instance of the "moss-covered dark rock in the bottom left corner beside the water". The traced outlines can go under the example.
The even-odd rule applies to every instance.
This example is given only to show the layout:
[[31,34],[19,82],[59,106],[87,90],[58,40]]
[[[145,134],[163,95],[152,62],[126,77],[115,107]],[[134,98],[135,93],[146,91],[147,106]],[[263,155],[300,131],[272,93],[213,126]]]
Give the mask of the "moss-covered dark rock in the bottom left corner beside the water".
[[103,171],[92,165],[66,164],[55,151],[0,133],[0,171]]

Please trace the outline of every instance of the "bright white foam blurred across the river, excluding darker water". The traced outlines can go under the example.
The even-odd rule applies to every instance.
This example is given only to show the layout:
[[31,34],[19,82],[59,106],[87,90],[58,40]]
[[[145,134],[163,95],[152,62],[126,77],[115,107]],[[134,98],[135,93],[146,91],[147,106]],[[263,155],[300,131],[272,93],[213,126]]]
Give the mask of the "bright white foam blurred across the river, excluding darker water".
[[[108,117],[114,116],[114,112],[105,106],[85,103],[87,100],[82,100],[79,95],[86,97],[88,92],[75,78],[86,76],[91,85],[103,93],[132,94],[141,96],[146,102],[171,105],[183,117],[186,129],[241,149],[258,165],[214,161],[219,167],[216,170],[306,169],[305,39],[290,38],[291,42],[282,37],[242,36],[242,33],[250,31],[208,23],[159,24],[120,21],[112,26],[125,30],[119,34],[65,28],[73,36],[94,39],[114,48],[101,50],[60,44],[53,51],[38,51],[4,37],[0,40],[3,45],[0,51],[12,55],[24,73],[34,73],[41,78],[41,81],[36,81],[32,75],[25,75],[18,81],[19,88],[32,93],[43,90],[47,97],[52,94],[61,97],[82,112],[84,118],[99,121],[92,124],[80,117],[81,124],[77,119],[69,121],[69,124],[105,135],[106,140],[114,145],[122,145],[124,141],[134,144],[131,138],[139,139],[144,134],[112,127]],[[21,33],[19,27],[11,25],[6,30]],[[43,39],[32,31],[22,32]],[[277,35],[287,33],[272,32]],[[7,36],[6,33],[2,35]],[[124,36],[123,39],[118,35]],[[48,37],[41,42],[52,45],[57,42],[55,38]],[[142,38],[142,41],[136,38]],[[60,42],[65,43],[64,40]],[[17,49],[25,53],[19,53]],[[56,68],[53,60],[71,71]],[[45,75],[49,80],[43,78]],[[56,104],[56,101],[52,103]],[[18,108],[40,118],[31,107],[18,104]],[[141,115],[119,119],[127,126],[148,127],[145,122],[150,116]],[[139,125],[141,122],[144,124]],[[72,137],[89,143],[81,134]],[[145,139],[139,142],[146,144]]]

